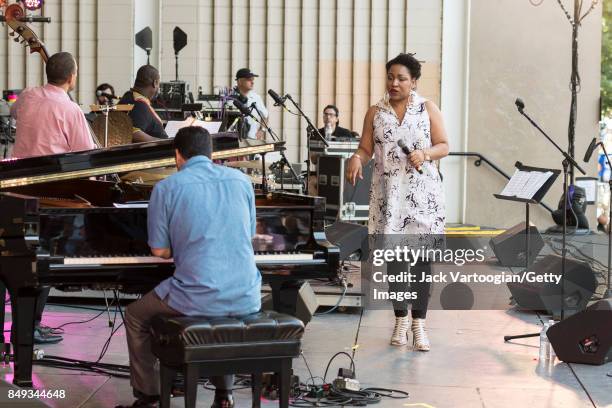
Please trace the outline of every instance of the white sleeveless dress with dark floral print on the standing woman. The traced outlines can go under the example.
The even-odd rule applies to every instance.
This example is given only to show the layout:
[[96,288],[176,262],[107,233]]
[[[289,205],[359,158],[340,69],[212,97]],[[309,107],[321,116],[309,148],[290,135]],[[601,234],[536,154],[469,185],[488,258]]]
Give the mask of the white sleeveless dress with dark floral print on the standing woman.
[[426,99],[412,92],[410,100],[401,124],[386,99],[376,104],[369,232],[430,241],[444,233],[444,192],[435,164],[425,162],[419,174],[397,144],[402,139],[411,151],[431,147]]

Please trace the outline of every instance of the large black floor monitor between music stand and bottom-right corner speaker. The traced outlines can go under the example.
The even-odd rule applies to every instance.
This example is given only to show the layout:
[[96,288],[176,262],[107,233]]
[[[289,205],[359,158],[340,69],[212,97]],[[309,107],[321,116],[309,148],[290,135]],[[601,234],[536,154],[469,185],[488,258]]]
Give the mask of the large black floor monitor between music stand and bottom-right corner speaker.
[[[529,271],[536,276],[546,274],[561,275],[562,258],[557,255],[547,255],[533,264]],[[526,272],[521,272],[526,273]],[[546,311],[558,315],[561,311],[561,285],[554,282],[540,283],[508,283],[508,289],[518,306],[533,311]],[[565,265],[564,309],[568,314],[584,310],[595,293],[597,280],[591,267],[582,261],[567,259]]]

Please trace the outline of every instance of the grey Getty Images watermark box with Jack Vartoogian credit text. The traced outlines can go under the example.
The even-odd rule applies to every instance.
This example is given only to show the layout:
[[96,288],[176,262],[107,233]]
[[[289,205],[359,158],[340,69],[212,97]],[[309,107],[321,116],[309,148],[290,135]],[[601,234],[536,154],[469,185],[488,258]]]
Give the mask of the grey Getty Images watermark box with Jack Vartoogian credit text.
[[[515,291],[560,292],[561,270],[550,266],[556,256],[554,241],[531,254],[529,268],[524,240],[503,248],[514,266],[500,264],[489,241],[486,235],[370,236],[368,259],[362,261],[365,306],[494,310],[507,309]],[[580,252],[591,247],[585,244]]]

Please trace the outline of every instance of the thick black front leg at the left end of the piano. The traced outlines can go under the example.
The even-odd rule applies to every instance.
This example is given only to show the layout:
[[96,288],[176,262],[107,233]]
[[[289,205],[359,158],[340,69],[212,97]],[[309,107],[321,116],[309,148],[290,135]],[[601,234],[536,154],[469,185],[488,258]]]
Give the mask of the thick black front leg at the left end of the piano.
[[34,314],[39,290],[19,289],[11,293],[11,342],[15,351],[13,384],[32,386],[32,354],[34,352]]

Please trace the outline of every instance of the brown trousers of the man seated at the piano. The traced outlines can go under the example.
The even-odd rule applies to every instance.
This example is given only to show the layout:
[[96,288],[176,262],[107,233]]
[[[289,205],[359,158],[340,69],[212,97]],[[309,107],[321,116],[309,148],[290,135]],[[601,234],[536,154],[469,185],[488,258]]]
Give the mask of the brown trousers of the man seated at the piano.
[[[125,312],[125,332],[130,355],[130,384],[134,396],[159,395],[159,364],[151,351],[151,320],[154,316],[182,316],[172,309],[155,291],[131,303]],[[232,375],[211,377],[217,391],[231,390]]]

